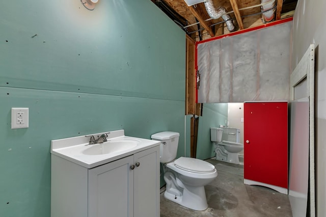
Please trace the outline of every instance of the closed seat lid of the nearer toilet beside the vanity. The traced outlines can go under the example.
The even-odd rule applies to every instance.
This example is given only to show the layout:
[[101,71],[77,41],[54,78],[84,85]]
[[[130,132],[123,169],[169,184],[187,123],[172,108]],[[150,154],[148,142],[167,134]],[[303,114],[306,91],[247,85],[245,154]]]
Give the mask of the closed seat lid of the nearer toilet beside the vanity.
[[181,170],[193,173],[211,173],[215,170],[209,162],[191,157],[179,157],[174,161],[174,165]]

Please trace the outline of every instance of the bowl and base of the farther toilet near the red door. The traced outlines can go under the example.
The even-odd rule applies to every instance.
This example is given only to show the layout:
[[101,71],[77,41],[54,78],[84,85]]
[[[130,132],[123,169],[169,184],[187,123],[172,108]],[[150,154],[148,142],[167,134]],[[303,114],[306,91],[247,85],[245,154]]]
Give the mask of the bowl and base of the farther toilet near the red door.
[[222,141],[214,143],[216,160],[223,160],[232,164],[239,164],[238,153],[243,150],[243,144]]

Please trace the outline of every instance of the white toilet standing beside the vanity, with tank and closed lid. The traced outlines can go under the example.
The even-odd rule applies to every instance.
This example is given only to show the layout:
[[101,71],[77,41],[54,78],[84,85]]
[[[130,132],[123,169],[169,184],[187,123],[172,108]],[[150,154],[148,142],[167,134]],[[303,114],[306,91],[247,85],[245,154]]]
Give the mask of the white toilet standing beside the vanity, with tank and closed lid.
[[177,156],[179,133],[158,132],[151,136],[160,141],[160,162],[167,183],[165,198],[194,210],[207,209],[204,185],[213,181],[218,172],[204,160]]

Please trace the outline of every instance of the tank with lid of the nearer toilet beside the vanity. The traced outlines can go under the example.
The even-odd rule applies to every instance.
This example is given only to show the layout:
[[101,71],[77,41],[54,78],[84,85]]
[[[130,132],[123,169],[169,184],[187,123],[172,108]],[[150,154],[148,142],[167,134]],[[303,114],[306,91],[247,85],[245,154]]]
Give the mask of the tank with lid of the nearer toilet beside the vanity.
[[159,141],[159,159],[160,162],[170,162],[177,156],[179,133],[164,131],[151,135],[151,139]]

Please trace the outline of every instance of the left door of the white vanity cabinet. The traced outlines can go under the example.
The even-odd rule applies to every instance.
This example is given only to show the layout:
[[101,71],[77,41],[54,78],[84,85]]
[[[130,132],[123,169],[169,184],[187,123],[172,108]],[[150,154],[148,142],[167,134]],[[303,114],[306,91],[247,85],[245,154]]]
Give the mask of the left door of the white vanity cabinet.
[[89,217],[133,216],[133,155],[89,170]]

